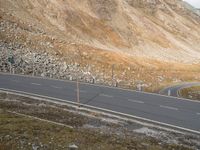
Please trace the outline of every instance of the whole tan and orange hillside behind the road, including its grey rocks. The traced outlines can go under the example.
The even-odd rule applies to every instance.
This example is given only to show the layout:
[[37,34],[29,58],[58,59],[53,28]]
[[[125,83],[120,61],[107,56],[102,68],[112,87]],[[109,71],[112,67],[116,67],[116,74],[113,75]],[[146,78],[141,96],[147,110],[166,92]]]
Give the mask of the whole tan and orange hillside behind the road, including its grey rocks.
[[129,86],[200,80],[200,16],[181,0],[0,0],[0,42],[4,71],[15,55],[38,75],[81,66],[103,82],[115,64]]

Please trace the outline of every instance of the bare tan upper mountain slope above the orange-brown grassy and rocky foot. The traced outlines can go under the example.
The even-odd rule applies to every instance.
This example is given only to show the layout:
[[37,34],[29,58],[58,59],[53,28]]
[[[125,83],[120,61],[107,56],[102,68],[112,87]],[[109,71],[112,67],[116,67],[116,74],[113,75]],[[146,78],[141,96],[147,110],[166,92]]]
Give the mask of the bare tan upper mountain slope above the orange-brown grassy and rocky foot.
[[200,16],[180,0],[1,0],[1,7],[69,42],[161,60],[200,59]]

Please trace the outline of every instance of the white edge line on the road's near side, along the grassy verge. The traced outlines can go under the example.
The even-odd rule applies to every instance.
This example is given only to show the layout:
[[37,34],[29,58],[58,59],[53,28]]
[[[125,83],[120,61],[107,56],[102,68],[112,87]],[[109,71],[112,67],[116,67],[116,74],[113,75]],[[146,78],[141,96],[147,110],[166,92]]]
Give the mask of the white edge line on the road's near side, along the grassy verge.
[[[57,101],[61,101],[61,102],[65,102],[65,103],[68,103],[68,104],[73,104],[73,105],[79,106],[78,103],[68,101],[68,100],[52,98],[52,97],[48,97],[48,96],[42,96],[42,95],[32,94],[32,93],[23,92],[23,91],[4,89],[4,88],[0,88],[0,90],[3,91],[3,92],[8,92],[8,93],[25,94],[27,96],[32,95],[33,97],[36,96],[36,97],[40,97],[40,98],[47,98],[47,99],[50,99],[50,100],[57,100]],[[154,120],[151,120],[151,119],[146,119],[146,118],[142,118],[142,117],[138,117],[138,116],[134,116],[134,115],[129,115],[129,114],[121,113],[121,112],[116,112],[116,111],[112,111],[112,110],[108,110],[108,109],[104,109],[104,108],[98,108],[98,107],[90,106],[90,105],[86,105],[86,104],[81,104],[81,106],[84,106],[84,107],[90,108],[90,109],[100,110],[100,111],[103,111],[103,112],[114,113],[116,115],[122,115],[122,116],[125,116],[125,117],[130,117],[130,118],[133,118],[133,119],[138,119],[138,120],[146,121],[146,122],[149,122],[149,123],[155,123],[157,125],[163,125],[163,126],[168,127],[168,128],[174,128],[174,129],[179,129],[179,130],[190,132],[190,133],[200,134],[200,131],[187,129],[187,128],[184,128],[184,127],[179,127],[179,126],[175,126],[175,125],[171,125],[171,124],[167,124],[167,123],[163,123],[163,122],[159,122],[159,121],[154,121]]]

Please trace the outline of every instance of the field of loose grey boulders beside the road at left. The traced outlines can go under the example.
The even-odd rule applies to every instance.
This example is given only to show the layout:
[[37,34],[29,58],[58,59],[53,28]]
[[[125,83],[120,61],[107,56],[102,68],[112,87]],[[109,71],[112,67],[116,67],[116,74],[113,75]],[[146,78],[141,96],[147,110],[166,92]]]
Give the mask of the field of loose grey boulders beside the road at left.
[[[14,58],[11,72],[17,74],[35,75],[57,79],[76,80],[78,75],[81,81],[94,82],[95,76],[89,68],[79,68],[79,64],[67,64],[63,58],[52,56],[46,51],[40,53],[21,45],[0,42],[0,71],[10,72],[9,57]],[[94,79],[94,80],[93,80]]]

